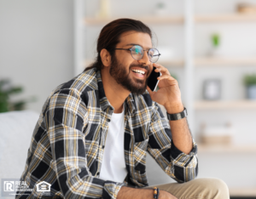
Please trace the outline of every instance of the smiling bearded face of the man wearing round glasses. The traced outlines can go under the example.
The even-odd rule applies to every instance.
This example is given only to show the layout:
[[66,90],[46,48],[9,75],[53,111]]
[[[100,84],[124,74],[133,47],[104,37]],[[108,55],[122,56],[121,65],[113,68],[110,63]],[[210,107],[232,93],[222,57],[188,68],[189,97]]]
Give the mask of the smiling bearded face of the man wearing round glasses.
[[[128,31],[120,36],[120,43],[116,48],[131,48],[136,44],[148,50],[152,48],[151,37],[147,33]],[[116,82],[131,93],[143,94],[152,68],[147,52],[144,52],[142,60],[134,60],[131,51],[118,49],[115,50],[112,58],[109,73]]]

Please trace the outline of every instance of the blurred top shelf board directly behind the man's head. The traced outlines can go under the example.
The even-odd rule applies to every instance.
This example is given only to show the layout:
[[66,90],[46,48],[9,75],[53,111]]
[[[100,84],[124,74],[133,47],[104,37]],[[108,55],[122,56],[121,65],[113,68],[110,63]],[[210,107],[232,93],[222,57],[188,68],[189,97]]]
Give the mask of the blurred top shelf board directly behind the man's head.
[[[85,18],[85,25],[104,25],[112,20],[119,19],[116,18],[107,18],[107,19],[97,19],[97,18]],[[183,24],[182,16],[168,16],[168,17],[132,17],[135,20],[142,20],[144,23],[148,24]]]

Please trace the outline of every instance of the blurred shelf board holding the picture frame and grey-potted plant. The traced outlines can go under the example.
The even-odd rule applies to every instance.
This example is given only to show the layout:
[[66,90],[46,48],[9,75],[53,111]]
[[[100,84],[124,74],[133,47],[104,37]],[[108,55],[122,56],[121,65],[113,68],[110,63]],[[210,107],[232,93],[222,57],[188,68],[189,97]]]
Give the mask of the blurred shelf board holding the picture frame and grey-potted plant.
[[227,110],[227,109],[256,109],[256,100],[236,100],[236,101],[207,101],[195,102],[195,110]]

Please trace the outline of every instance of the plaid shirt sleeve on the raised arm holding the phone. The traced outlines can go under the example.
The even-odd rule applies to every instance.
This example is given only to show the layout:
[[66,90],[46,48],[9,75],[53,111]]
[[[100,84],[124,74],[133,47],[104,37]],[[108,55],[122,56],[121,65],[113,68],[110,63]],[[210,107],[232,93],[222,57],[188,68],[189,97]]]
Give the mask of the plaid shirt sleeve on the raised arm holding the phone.
[[153,102],[152,121],[148,132],[148,153],[172,179],[187,182],[195,179],[198,173],[197,145],[193,139],[193,149],[189,155],[179,151],[172,142],[169,122]]

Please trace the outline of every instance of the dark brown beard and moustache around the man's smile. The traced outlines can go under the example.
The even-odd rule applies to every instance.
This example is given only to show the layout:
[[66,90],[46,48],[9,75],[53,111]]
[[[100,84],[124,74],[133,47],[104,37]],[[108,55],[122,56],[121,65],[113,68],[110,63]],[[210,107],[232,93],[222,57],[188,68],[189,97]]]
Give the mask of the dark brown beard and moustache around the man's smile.
[[146,69],[149,72],[148,65],[130,65],[129,71],[126,71],[125,65],[119,63],[116,59],[116,56],[113,55],[113,60],[110,65],[109,73],[113,77],[113,79],[120,84],[123,88],[131,91],[132,94],[143,94],[148,85],[148,72],[145,73],[147,79],[132,79],[129,77],[131,71],[131,67],[137,66],[143,69]]

